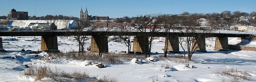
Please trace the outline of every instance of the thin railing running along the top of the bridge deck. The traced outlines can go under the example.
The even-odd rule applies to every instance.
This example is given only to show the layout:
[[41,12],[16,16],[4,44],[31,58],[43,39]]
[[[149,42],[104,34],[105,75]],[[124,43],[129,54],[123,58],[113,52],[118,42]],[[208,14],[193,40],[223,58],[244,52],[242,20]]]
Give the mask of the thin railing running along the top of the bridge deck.
[[[83,31],[88,31],[89,28],[85,28]],[[164,32],[164,29],[156,29],[160,32]],[[29,27],[7,27],[7,28],[0,28],[1,31],[74,31],[71,29],[62,29],[58,28],[57,30],[51,30],[50,28],[29,28]],[[138,31],[132,27],[124,27],[124,28],[96,28],[93,31]],[[146,31],[150,31],[150,29],[146,29]],[[185,30],[170,30],[169,32],[181,32]],[[203,32],[201,30],[196,30],[195,32]],[[207,33],[220,33],[220,34],[255,34],[255,31],[229,31],[229,30],[212,30]]]

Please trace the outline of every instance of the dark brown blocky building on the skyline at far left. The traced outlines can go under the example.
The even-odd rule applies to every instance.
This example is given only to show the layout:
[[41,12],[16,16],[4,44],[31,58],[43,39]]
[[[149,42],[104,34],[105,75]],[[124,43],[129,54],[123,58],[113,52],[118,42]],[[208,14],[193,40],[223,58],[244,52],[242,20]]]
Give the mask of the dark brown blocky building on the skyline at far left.
[[12,9],[8,14],[8,20],[28,20],[28,19],[29,19],[28,12],[16,11],[15,9]]

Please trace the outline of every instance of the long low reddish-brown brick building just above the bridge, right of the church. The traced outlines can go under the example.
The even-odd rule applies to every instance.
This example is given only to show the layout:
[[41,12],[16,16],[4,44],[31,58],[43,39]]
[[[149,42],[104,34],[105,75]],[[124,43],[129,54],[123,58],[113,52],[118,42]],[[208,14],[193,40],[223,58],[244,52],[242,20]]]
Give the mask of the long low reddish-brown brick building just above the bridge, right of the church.
[[93,22],[93,27],[127,27],[131,23],[107,23],[107,22]]

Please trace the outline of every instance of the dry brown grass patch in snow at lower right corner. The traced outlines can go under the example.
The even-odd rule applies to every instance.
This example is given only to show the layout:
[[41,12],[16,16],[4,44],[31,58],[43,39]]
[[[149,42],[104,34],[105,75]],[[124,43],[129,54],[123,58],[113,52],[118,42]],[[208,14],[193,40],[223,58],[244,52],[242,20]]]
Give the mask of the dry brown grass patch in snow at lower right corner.
[[222,70],[222,71],[215,71],[213,73],[219,74],[219,75],[233,76],[234,77],[233,81],[236,81],[235,79],[238,79],[238,78],[248,80],[251,76],[249,73],[247,73],[247,71],[242,71],[242,70],[238,70],[238,69],[234,69],[234,68],[225,69],[225,70]]

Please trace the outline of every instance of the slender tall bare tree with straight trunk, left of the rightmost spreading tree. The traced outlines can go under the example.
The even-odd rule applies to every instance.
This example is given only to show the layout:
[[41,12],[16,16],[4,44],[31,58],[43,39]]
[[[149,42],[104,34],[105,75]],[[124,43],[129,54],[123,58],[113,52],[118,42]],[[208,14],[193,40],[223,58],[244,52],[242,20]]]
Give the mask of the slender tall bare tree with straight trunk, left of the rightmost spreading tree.
[[178,24],[179,20],[177,18],[177,15],[168,15],[164,14],[162,15],[162,24],[164,25],[164,31],[167,32],[167,36],[165,37],[165,47],[164,47],[164,57],[167,57],[168,53],[168,39],[169,37],[173,37],[175,35],[169,34],[169,32],[174,32],[175,30],[175,24]]

